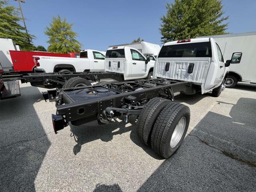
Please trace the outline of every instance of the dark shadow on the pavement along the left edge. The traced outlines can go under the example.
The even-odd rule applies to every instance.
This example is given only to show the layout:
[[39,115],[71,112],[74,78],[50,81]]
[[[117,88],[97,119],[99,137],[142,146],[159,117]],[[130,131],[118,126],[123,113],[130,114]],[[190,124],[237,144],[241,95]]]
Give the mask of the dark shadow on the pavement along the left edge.
[[50,146],[33,104],[38,88],[20,88],[18,98],[0,101],[0,191],[35,191],[34,180]]

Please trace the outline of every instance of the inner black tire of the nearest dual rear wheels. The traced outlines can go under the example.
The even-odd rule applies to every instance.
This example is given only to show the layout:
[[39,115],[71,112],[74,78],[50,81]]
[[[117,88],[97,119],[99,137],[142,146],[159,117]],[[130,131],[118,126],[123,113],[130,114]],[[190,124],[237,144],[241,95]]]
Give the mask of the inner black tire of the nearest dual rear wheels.
[[170,102],[170,100],[156,97],[151,99],[140,112],[137,123],[138,137],[144,144],[150,146],[150,134],[156,118]]

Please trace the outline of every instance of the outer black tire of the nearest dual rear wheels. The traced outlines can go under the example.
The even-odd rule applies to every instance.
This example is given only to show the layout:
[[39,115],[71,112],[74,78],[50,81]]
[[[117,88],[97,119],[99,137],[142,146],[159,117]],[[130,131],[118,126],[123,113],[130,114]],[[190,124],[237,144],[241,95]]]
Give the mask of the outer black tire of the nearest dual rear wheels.
[[[176,132],[174,133],[174,130],[176,125],[180,123],[180,120],[184,121],[184,126],[182,128],[183,132],[181,131],[180,134],[178,134],[178,139],[174,140],[175,142],[172,143],[174,146],[171,147],[171,138],[173,134],[177,135]],[[165,106],[156,119],[152,130],[152,149],[163,158],[172,156],[184,140],[189,122],[190,110],[188,106],[176,102],[172,102]]]

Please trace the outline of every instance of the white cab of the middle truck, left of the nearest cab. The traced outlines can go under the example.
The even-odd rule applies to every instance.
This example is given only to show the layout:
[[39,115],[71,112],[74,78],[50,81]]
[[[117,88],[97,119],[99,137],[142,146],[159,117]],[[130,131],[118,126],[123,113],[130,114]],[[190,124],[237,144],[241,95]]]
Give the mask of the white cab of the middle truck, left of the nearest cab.
[[124,80],[152,78],[154,63],[154,56],[145,57],[136,48],[114,46],[106,51],[105,70],[123,74]]

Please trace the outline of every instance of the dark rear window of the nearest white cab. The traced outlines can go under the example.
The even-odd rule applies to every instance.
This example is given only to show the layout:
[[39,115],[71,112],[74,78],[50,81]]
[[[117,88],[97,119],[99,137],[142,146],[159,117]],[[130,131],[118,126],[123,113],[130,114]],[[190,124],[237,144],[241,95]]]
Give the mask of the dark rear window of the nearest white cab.
[[210,42],[179,43],[162,46],[158,58],[212,57]]

